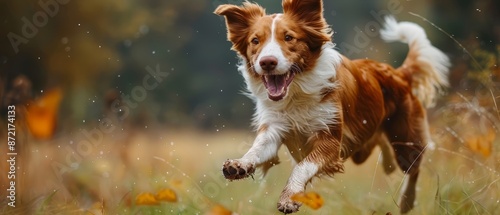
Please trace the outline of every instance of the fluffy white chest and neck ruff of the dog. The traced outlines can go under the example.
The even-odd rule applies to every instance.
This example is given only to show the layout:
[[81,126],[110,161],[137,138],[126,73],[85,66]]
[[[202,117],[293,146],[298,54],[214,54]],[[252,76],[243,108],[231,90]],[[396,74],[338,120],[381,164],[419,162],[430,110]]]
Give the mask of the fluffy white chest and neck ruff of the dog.
[[294,129],[312,133],[328,129],[328,125],[337,123],[334,119],[340,115],[339,104],[320,101],[325,91],[335,90],[337,87],[333,80],[341,61],[333,44],[323,45],[314,69],[295,75],[286,97],[275,102],[268,98],[262,81],[250,76],[247,63],[242,59],[238,70],[245,78],[247,96],[256,103],[254,125],[276,125],[276,129],[283,132]]

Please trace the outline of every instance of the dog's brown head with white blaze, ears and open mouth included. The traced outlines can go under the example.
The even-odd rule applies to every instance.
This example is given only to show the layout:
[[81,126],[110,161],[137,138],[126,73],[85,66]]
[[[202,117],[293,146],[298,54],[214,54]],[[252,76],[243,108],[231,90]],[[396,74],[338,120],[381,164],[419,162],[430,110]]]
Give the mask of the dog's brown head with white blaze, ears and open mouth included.
[[267,15],[249,2],[220,5],[215,13],[225,16],[232,49],[273,101],[286,97],[294,77],[311,70],[322,45],[331,41],[321,0],[283,0],[283,14]]

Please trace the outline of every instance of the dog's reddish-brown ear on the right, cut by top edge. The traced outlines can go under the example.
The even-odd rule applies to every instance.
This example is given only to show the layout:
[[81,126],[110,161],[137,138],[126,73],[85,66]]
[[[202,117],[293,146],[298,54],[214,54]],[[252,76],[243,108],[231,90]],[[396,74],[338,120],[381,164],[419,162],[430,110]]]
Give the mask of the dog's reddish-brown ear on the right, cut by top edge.
[[306,31],[311,49],[331,41],[332,29],[323,17],[322,0],[283,0],[283,12]]

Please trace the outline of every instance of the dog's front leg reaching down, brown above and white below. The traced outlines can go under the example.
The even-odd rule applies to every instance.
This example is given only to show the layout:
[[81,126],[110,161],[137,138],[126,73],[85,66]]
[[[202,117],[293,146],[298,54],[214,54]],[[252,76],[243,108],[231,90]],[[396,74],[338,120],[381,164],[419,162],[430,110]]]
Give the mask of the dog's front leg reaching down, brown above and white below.
[[320,131],[309,138],[307,144],[313,144],[313,149],[293,168],[292,175],[281,192],[279,211],[285,214],[297,212],[301,203],[293,201],[291,197],[304,192],[305,186],[314,176],[343,172],[344,165],[340,158],[341,134],[339,131],[334,133]]

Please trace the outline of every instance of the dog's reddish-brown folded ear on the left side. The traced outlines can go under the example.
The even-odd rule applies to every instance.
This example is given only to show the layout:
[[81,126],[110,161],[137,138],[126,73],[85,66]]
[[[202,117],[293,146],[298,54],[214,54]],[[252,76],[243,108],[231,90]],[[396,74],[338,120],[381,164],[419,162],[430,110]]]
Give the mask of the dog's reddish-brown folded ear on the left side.
[[227,39],[233,43],[233,49],[244,54],[250,26],[257,18],[264,16],[265,10],[257,4],[244,2],[243,6],[220,5],[215,14],[226,17]]

